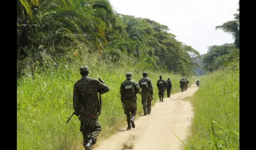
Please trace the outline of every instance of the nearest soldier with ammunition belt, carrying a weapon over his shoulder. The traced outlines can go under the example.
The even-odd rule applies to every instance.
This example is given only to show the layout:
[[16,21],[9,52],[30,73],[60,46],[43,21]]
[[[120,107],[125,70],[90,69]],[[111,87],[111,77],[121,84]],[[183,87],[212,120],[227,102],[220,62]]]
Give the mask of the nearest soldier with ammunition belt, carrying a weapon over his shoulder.
[[73,89],[73,109],[80,116],[80,131],[83,134],[83,146],[92,150],[97,142],[101,126],[98,120],[98,93],[107,93],[110,88],[98,79],[88,77],[88,67],[80,67],[82,78],[76,81]]

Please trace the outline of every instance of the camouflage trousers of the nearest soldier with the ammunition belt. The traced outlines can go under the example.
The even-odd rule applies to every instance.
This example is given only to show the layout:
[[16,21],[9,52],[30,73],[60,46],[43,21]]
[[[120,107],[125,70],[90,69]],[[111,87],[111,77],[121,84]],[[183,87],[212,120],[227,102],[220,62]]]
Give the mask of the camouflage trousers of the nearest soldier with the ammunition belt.
[[93,144],[97,142],[99,133],[101,132],[101,126],[97,119],[90,119],[85,114],[79,114],[80,116],[80,131],[83,134],[83,146],[85,146],[89,139],[92,138]]

